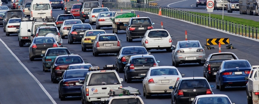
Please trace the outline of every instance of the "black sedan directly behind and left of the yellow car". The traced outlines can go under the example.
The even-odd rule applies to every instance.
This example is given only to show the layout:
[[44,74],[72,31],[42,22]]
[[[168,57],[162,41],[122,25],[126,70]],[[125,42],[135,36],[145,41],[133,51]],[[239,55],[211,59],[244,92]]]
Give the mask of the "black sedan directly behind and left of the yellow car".
[[81,42],[84,32],[90,29],[93,29],[90,24],[73,24],[70,29],[67,29],[69,30],[67,34],[68,43]]

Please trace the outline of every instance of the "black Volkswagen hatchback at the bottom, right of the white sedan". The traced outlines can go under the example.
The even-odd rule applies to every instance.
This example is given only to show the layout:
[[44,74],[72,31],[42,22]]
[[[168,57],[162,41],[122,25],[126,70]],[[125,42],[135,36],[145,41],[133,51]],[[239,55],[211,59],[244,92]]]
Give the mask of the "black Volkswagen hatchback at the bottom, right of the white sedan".
[[171,104],[190,104],[198,95],[214,94],[211,87],[214,85],[209,85],[204,77],[179,78],[174,87],[169,87],[173,89]]

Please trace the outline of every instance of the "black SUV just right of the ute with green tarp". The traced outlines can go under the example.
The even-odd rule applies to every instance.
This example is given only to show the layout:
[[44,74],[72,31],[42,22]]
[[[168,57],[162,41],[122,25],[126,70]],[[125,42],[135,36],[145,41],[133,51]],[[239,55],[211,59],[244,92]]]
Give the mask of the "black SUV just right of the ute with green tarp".
[[126,40],[132,42],[133,39],[143,38],[148,29],[153,25],[149,17],[132,17],[126,27]]

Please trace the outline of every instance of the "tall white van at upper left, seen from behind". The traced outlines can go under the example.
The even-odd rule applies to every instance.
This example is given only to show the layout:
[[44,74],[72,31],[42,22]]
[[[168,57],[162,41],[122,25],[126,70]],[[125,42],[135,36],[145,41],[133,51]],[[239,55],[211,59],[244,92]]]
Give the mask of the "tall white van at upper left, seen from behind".
[[30,8],[30,20],[33,18],[46,18],[46,16],[52,16],[52,9],[49,0],[33,0]]

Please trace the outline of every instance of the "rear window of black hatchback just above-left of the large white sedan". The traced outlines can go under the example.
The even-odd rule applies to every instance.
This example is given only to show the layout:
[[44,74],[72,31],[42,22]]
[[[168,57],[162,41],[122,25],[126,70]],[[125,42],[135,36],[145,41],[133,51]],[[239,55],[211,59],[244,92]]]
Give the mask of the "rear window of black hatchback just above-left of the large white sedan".
[[155,63],[154,58],[151,57],[141,57],[141,58],[134,58],[131,61],[131,64],[153,64]]

